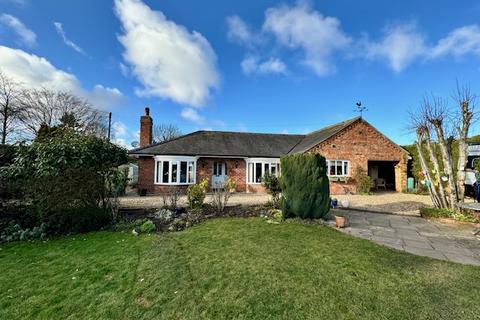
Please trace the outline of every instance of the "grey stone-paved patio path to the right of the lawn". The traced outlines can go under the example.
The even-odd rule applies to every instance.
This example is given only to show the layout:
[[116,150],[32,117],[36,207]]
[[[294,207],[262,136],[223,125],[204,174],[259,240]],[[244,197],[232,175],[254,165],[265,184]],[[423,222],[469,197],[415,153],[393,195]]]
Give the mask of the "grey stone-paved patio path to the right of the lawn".
[[472,234],[472,225],[344,210],[332,214],[336,212],[348,217],[343,232],[420,256],[480,266],[480,238]]

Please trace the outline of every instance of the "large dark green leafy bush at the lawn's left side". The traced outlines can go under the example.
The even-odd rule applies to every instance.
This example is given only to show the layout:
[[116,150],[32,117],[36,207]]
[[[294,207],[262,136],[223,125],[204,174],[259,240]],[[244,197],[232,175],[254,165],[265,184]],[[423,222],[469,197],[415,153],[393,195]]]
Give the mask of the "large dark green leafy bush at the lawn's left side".
[[19,146],[16,155],[0,167],[0,179],[16,185],[12,197],[34,217],[26,227],[45,223],[53,234],[85,232],[115,218],[125,182],[116,168],[128,161],[125,149],[65,129]]

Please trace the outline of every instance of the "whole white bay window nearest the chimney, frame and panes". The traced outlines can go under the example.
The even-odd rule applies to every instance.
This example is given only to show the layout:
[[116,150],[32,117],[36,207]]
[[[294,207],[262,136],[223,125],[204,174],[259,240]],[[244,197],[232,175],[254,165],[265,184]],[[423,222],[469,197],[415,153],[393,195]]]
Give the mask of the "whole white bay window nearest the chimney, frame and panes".
[[186,185],[195,183],[194,157],[155,157],[155,184]]

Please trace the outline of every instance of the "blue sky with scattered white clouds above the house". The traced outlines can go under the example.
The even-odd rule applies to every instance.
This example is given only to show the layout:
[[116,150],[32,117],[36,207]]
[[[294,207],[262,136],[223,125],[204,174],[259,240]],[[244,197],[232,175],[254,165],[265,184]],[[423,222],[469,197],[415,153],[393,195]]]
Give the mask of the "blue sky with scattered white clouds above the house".
[[126,145],[145,106],[185,133],[306,133],[358,100],[406,144],[424,94],[480,92],[479,17],[476,1],[0,0],[0,68],[112,111]]

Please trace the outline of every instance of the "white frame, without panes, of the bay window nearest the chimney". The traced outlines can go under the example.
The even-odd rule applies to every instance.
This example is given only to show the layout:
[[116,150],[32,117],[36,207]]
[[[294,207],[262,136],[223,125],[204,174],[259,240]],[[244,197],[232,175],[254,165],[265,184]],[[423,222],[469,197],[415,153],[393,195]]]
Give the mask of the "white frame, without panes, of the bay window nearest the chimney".
[[[168,185],[168,186],[182,186],[182,185],[191,185],[197,183],[197,157],[185,157],[185,156],[155,156],[154,164],[154,176],[153,181],[156,185]],[[163,165],[168,161],[168,182],[163,182]],[[187,163],[187,172],[186,172],[186,182],[180,182],[180,172],[181,172],[181,162]],[[188,181],[190,166],[189,162],[193,162],[193,181]],[[159,165],[160,163],[160,165]],[[172,164],[177,164],[177,182],[172,182]],[[157,171],[160,170],[160,174],[157,175]],[[160,181],[157,180],[157,177]]]

